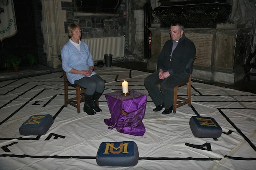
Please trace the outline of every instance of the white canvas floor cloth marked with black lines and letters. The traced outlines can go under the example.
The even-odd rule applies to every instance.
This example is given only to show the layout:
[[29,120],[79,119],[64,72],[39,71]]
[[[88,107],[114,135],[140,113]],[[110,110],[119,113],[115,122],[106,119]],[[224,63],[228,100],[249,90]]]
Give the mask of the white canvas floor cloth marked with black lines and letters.
[[[8,80],[0,85],[0,169],[1,170],[255,170],[256,169],[256,94],[192,82],[192,107],[179,107],[176,114],[154,112],[154,104],[144,87],[151,73],[126,68],[95,67],[106,81],[96,115],[64,107],[62,72]],[[106,93],[129,89],[147,94],[142,137],[108,129],[110,118]],[[72,91],[72,90],[71,90]],[[70,92],[74,94],[75,90]],[[186,88],[180,88],[186,95]],[[83,107],[83,104],[81,104]],[[42,136],[22,136],[19,127],[31,115],[50,114],[54,123]],[[196,138],[189,126],[190,117],[213,117],[222,127],[217,140]],[[134,141],[139,161],[133,167],[104,167],[96,163],[100,143]],[[203,145],[196,149],[188,147]],[[209,148],[210,146],[210,148]],[[211,151],[210,151],[211,150]]]

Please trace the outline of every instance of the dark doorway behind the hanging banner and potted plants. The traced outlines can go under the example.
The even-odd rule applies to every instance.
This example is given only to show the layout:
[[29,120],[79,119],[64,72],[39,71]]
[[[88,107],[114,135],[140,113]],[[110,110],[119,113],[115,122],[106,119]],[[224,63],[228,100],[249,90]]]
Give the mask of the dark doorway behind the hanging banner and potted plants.
[[[14,0],[14,10],[18,32],[13,37],[6,38],[1,42],[1,66],[4,66],[4,55],[5,57],[10,55],[20,57],[32,54],[38,59],[32,0]],[[22,65],[28,64],[29,62],[22,62]]]

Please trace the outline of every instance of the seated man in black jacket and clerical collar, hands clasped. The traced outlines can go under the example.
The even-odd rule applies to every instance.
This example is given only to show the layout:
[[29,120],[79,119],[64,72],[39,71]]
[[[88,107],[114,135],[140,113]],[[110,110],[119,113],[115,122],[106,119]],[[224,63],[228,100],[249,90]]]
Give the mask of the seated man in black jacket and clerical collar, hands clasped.
[[[172,113],[173,88],[188,80],[196,55],[196,47],[185,37],[184,25],[181,22],[171,24],[170,35],[172,39],[166,41],[158,57],[158,70],[144,81],[150,97],[157,106],[153,111],[165,108],[163,114]],[[161,84],[161,91],[158,84]]]

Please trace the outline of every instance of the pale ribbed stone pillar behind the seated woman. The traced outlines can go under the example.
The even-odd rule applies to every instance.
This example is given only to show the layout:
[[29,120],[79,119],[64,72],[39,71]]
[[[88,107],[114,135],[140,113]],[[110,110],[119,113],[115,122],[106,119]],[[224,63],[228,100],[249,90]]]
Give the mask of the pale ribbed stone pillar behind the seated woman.
[[62,1],[72,2],[72,0],[41,0],[44,53],[46,53],[47,65],[53,68],[60,67],[58,55],[64,43],[68,41],[68,35],[64,30],[66,11],[62,10]]

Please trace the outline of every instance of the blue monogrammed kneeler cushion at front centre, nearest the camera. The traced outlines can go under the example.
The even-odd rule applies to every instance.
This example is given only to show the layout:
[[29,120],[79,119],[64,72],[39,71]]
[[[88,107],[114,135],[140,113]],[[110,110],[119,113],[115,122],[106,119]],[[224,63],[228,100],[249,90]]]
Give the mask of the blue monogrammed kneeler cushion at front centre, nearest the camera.
[[138,147],[132,141],[102,142],[96,156],[100,166],[135,166],[138,160]]

